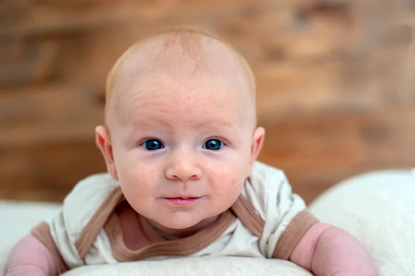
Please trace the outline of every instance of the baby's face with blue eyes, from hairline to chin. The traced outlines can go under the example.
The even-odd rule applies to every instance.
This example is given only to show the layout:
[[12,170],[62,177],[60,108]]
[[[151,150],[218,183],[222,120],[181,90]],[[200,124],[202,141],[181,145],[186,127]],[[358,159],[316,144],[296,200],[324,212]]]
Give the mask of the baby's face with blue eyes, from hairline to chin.
[[110,115],[116,178],[136,212],[188,228],[237,200],[257,157],[252,139],[263,129],[255,134],[249,97],[225,81],[146,80]]

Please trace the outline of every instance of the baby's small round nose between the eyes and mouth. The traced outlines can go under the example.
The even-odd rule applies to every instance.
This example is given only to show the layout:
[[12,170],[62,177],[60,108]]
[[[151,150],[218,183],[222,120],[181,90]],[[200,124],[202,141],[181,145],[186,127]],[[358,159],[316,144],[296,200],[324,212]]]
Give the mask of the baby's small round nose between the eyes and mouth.
[[194,154],[183,150],[176,150],[172,152],[172,156],[165,170],[165,175],[171,180],[197,180],[202,176],[202,169]]

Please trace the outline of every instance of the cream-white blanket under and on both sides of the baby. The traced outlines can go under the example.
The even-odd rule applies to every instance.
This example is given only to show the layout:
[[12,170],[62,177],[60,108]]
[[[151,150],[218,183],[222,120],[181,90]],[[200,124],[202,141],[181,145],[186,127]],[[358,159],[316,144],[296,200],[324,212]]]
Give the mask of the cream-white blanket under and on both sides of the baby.
[[[0,275],[12,245],[59,205],[0,201]],[[322,221],[365,243],[379,276],[415,275],[415,174],[385,171],[350,178],[322,194],[310,209]],[[75,275],[311,275],[288,261],[203,257],[85,266]]]

